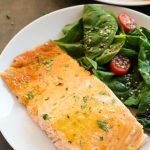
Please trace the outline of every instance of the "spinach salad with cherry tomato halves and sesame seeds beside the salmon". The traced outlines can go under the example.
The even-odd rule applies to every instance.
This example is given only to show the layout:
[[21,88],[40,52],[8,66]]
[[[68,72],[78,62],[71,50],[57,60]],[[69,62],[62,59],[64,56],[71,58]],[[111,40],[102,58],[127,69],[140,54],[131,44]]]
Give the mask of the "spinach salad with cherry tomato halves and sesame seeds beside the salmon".
[[63,33],[55,42],[135,108],[137,120],[150,132],[150,30],[126,13],[116,16],[89,4]]

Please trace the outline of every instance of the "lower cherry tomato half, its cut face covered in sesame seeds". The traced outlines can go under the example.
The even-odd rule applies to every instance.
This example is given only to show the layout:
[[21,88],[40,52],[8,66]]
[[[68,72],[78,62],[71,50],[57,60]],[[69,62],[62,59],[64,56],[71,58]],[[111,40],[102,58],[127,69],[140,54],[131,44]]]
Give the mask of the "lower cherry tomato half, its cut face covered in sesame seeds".
[[117,55],[110,61],[110,69],[117,75],[127,74],[130,66],[129,58],[122,55]]

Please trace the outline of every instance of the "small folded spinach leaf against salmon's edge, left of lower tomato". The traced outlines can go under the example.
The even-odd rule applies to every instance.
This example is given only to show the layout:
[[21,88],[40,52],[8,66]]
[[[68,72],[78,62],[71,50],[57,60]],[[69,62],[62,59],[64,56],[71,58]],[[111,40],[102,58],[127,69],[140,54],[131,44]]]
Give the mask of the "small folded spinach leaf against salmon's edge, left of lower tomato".
[[88,57],[81,57],[78,59],[81,66],[83,66],[85,69],[89,70],[91,67],[94,69],[97,69],[97,62],[94,60],[88,58]]

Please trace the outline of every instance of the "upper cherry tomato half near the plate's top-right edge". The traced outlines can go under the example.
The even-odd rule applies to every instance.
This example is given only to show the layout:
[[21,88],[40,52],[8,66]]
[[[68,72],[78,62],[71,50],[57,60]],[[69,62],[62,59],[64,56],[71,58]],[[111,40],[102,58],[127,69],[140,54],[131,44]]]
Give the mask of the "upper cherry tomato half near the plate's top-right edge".
[[118,20],[124,28],[125,32],[128,32],[129,30],[134,29],[136,27],[135,20],[126,13],[120,13],[118,16]]

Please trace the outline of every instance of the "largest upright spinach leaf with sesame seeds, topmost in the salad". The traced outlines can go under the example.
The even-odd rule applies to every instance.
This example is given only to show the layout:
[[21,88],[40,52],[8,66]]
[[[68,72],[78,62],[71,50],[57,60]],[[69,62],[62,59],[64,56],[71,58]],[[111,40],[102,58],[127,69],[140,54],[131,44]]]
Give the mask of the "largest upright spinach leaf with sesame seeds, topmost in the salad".
[[97,5],[85,5],[83,12],[86,56],[93,59],[112,43],[118,26],[115,18]]

